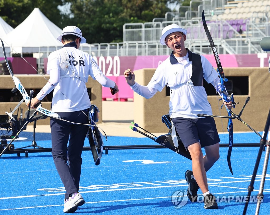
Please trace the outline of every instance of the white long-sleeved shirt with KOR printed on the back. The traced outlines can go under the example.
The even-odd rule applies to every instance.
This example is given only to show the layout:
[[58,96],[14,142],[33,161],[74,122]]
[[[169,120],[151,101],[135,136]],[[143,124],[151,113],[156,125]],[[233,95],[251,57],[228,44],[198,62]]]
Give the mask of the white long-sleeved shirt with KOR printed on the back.
[[102,86],[115,86],[112,80],[103,75],[92,56],[78,50],[74,43],[66,44],[48,57],[47,73],[50,74],[50,79],[38,93],[37,99],[42,100],[54,89],[53,112],[73,112],[90,107],[85,85],[89,75]]

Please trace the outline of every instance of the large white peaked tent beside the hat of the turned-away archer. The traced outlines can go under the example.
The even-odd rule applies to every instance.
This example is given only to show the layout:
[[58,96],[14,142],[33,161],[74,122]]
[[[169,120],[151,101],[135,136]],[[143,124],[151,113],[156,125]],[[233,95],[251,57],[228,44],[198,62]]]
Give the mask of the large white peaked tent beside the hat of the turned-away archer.
[[40,53],[44,49],[51,52],[61,48],[63,44],[56,39],[61,33],[62,29],[53,24],[39,8],[35,8],[20,25],[3,38],[14,52]]

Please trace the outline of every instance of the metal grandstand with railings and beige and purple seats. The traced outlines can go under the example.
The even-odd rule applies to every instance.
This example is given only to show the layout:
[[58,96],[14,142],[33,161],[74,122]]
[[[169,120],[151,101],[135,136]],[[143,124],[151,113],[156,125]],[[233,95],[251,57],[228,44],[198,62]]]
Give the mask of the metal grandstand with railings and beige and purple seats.
[[[159,42],[162,29],[172,23],[187,29],[185,46],[194,53],[209,54],[209,45],[202,25],[202,12],[215,46],[220,54],[262,53],[260,41],[270,36],[269,0],[191,0],[152,22],[126,23],[122,43],[100,43],[80,47],[92,56],[168,55],[170,50]],[[43,51],[42,58],[51,51]],[[43,68],[42,59],[39,68]]]

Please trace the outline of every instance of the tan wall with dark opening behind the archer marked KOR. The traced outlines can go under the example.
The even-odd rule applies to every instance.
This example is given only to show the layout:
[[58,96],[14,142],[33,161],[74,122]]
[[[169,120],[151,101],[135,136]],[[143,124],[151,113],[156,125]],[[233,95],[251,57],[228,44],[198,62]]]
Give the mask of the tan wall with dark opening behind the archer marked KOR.
[[[15,75],[19,80],[21,81],[23,87],[27,89],[41,89],[46,83],[47,79],[49,79],[49,75],[44,75],[42,77],[41,75]],[[10,75],[2,75],[0,76],[0,89],[12,89],[14,87],[14,82]],[[94,81],[92,78],[89,77],[88,82],[86,83],[87,88],[91,88],[92,93],[92,100],[91,104],[96,105],[99,110],[102,110],[102,86],[97,82]],[[17,91],[18,94],[19,91]],[[36,96],[38,92],[34,92],[34,97]],[[79,95],[78,95],[79,96]],[[4,115],[5,111],[10,112],[10,109],[13,110],[18,102],[0,102],[0,115]],[[51,102],[42,102],[42,107],[50,110]],[[23,102],[20,105],[20,108],[23,109],[23,116],[25,111],[28,109],[28,107]],[[15,114],[17,111],[15,112]],[[102,122],[102,112],[99,113],[99,122]],[[37,125],[46,125],[50,124],[49,117],[42,120],[37,120]]]

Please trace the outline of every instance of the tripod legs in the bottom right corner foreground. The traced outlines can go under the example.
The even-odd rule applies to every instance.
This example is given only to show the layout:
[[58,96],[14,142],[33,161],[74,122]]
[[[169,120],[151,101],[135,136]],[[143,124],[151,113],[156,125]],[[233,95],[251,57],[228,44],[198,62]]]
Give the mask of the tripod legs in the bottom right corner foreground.
[[256,163],[255,163],[255,167],[254,167],[254,170],[253,170],[251,182],[250,182],[250,185],[248,186],[248,195],[247,195],[247,197],[249,199],[245,202],[243,215],[245,215],[246,212],[247,212],[248,202],[251,199],[250,195],[251,195],[251,192],[254,190],[254,181],[255,181],[255,178],[256,178],[257,171],[258,171],[260,159],[261,159],[261,156],[262,156],[262,151],[264,150],[264,148],[266,146],[265,160],[264,160],[264,166],[263,166],[263,170],[262,170],[262,179],[261,179],[259,193],[257,195],[257,200],[258,201],[257,201],[256,212],[255,212],[256,215],[259,214],[260,205],[261,205],[262,199],[264,197],[262,192],[263,192],[263,189],[264,189],[265,175],[266,175],[266,169],[267,169],[267,165],[268,165],[269,152],[270,152],[270,136],[268,136],[268,141],[267,141],[267,144],[266,144],[266,137],[267,137],[269,129],[270,129],[270,110],[269,110],[268,117],[267,117],[267,120],[266,120],[264,133],[263,133],[263,136],[262,136],[262,138],[260,140],[261,145],[260,145],[260,148],[259,148],[259,152],[258,152],[257,160],[256,160]]

